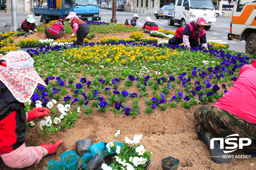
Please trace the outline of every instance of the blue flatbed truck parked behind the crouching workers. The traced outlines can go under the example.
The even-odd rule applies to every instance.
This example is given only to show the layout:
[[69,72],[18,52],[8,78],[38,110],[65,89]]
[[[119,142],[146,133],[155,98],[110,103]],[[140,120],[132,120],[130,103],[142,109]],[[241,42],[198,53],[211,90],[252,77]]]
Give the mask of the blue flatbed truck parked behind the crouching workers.
[[[100,0],[101,3],[101,0]],[[59,20],[69,15],[69,12],[76,12],[79,19],[83,21],[100,21],[100,10],[97,0],[48,0],[47,6],[37,6],[34,14],[40,16],[43,24],[49,21]]]

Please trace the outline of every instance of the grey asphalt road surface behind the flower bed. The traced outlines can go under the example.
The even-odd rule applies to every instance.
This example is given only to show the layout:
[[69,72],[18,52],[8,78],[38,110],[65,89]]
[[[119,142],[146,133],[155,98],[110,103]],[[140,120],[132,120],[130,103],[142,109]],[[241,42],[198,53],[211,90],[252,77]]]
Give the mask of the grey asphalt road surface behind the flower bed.
[[[125,20],[131,16],[133,16],[134,13],[132,12],[122,12],[122,11],[116,11],[116,17],[117,17],[117,23],[124,24]],[[144,25],[144,20],[146,16],[150,16],[150,18],[155,21],[155,23],[163,29],[176,31],[177,28],[179,28],[178,24],[175,24],[174,26],[168,26],[167,19],[156,19],[154,14],[143,14],[138,13],[139,20],[137,21],[137,26],[142,27]],[[25,20],[27,14],[17,14],[17,21],[18,25],[20,26],[22,21]],[[101,21],[110,22],[112,18],[112,11],[111,10],[104,10],[100,9],[100,16]],[[40,22],[41,16],[34,16],[36,20],[36,24],[43,24]],[[4,13],[3,11],[0,11],[0,32],[3,31],[10,31],[11,29],[11,12],[7,11],[7,13]],[[221,40],[229,43],[230,49],[236,50],[239,52],[245,52],[245,41],[228,41],[227,35],[229,33],[229,16],[219,16],[217,17],[217,21],[215,26],[212,26],[209,30],[206,30],[207,33],[207,39],[213,39],[213,40]]]

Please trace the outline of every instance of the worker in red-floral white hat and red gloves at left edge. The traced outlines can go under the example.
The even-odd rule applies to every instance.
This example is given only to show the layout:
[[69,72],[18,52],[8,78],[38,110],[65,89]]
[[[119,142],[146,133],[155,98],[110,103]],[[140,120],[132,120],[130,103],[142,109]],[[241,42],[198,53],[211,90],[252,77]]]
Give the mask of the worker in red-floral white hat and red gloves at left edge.
[[25,113],[24,103],[31,98],[37,84],[47,86],[37,74],[34,60],[27,52],[11,52],[0,58],[0,157],[11,168],[24,168],[39,163],[53,154],[62,140],[53,144],[26,147],[26,122],[45,118],[48,108],[35,108]]

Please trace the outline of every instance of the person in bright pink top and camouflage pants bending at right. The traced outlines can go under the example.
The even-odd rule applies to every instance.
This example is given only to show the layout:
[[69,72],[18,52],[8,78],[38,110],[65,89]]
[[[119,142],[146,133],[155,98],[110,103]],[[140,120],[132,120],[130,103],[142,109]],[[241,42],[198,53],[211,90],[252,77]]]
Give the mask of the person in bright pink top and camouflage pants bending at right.
[[[256,60],[253,60],[250,65],[241,68],[232,88],[214,106],[201,106],[195,111],[198,137],[204,140],[208,147],[213,138],[226,138],[231,134],[239,134],[236,138],[251,139],[250,145],[243,146],[245,154],[256,156],[256,107],[253,106],[256,103],[255,73]],[[232,140],[237,143],[238,141]],[[243,143],[246,144],[245,141]],[[214,141],[214,149],[210,150],[217,163],[230,163],[229,158],[222,157],[227,153],[224,153],[224,149],[220,149],[217,140]]]

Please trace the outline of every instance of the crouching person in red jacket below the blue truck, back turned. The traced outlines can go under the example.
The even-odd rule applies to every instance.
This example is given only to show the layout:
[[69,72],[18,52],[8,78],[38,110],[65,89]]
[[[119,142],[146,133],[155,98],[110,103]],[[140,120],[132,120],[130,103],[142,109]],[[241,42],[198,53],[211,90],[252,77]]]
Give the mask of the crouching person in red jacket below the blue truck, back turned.
[[52,27],[47,25],[45,27],[46,38],[57,39],[57,40],[60,39],[63,32],[65,32],[63,24],[64,24],[64,20],[59,19],[59,21],[55,22]]

